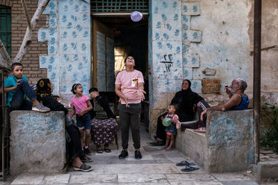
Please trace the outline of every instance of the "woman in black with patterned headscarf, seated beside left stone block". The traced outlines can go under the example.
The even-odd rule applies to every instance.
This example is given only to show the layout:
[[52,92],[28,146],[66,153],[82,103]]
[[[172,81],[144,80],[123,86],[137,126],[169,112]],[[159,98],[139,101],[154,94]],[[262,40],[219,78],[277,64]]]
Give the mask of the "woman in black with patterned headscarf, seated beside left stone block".
[[72,124],[70,115],[64,105],[54,100],[53,85],[49,78],[42,78],[37,82],[37,97],[38,101],[44,106],[49,107],[51,111],[63,111],[65,112],[65,130],[66,130],[66,141],[67,141],[67,157],[72,161],[74,170],[80,170],[88,172],[92,170],[91,166],[83,164],[84,162],[90,162],[92,159],[87,157],[81,148],[79,128]]

